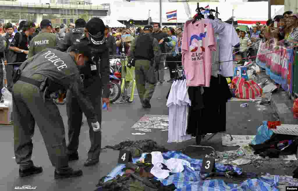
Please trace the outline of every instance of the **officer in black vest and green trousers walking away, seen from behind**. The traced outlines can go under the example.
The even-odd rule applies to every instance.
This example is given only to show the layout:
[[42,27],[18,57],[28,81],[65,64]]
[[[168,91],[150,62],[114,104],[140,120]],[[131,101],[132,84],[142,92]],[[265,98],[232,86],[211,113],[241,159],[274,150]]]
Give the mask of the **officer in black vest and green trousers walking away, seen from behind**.
[[135,66],[136,88],[143,108],[151,108],[156,79],[156,63],[160,62],[161,51],[158,41],[151,36],[153,27],[148,25],[131,43],[128,65]]

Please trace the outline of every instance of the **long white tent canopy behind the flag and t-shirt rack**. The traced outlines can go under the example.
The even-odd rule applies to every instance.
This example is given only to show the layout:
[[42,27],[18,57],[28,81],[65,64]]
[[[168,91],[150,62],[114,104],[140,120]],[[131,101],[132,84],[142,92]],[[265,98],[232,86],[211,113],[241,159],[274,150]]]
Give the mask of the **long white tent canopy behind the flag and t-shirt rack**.
[[[177,19],[179,23],[185,22],[189,17],[194,16],[197,8],[196,2],[188,3],[162,3],[162,22],[176,23],[176,20],[167,21],[166,12],[177,10]],[[228,20],[232,16],[232,10],[234,9],[235,20],[247,20],[247,21],[267,21],[268,20],[268,2],[246,2],[246,3],[215,3],[215,2],[202,2],[200,7],[206,7],[209,5],[211,9],[218,7],[219,18],[222,21]],[[274,15],[274,9],[279,10],[282,6],[271,6],[271,15]],[[117,20],[129,19],[133,20],[147,20],[149,17],[153,22],[159,23],[159,3],[153,2],[112,2],[111,3],[111,16]]]

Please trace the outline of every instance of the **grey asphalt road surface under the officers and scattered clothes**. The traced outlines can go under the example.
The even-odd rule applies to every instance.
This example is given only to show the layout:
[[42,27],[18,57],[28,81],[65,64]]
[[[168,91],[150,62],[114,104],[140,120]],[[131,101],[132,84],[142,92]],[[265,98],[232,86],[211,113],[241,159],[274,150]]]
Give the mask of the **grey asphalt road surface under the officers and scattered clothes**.
[[[165,75],[168,79],[169,75]],[[187,155],[192,158],[200,159],[211,152],[209,149],[198,147],[189,147],[195,145],[195,139],[182,143],[167,143],[167,131],[160,131],[152,129],[151,133],[145,135],[132,135],[137,131],[131,128],[141,117],[145,114],[153,115],[168,115],[168,108],[165,106],[166,95],[170,88],[170,83],[164,83],[162,86],[156,86],[151,105],[151,109],[143,109],[139,101],[139,97],[135,95],[133,103],[111,104],[110,111],[103,111],[103,139],[102,147],[106,145],[115,145],[123,140],[140,140],[153,139],[161,145],[164,145],[169,150],[185,149]],[[136,92],[137,93],[137,90]],[[219,94],[220,96],[220,94]],[[258,107],[255,103],[249,103],[249,107],[241,108],[240,104],[244,102],[231,101],[227,103],[227,131],[232,135],[255,135],[257,128],[263,120],[274,120],[273,111],[270,106]],[[58,106],[62,115],[65,128],[66,140],[67,137],[67,115],[66,105]],[[212,125],[212,120],[210,120]],[[205,127],[208,128],[208,127]],[[13,126],[0,125],[0,190],[10,191],[15,190],[15,187],[23,185],[30,185],[36,187],[36,191],[58,191],[58,190],[94,190],[95,185],[102,176],[106,176],[117,165],[119,151],[107,149],[100,155],[100,162],[91,167],[84,167],[83,163],[87,159],[87,150],[90,147],[89,128],[84,118],[84,125],[81,128],[80,145],[79,145],[79,160],[70,162],[69,165],[73,168],[81,168],[83,176],[78,178],[69,178],[63,180],[54,179],[54,167],[52,167],[44,141],[38,127],[35,127],[35,134],[33,137],[33,153],[32,160],[35,165],[43,167],[43,173],[20,178],[18,176],[18,165],[14,159],[13,148]],[[210,145],[217,151],[236,150],[238,147],[224,147],[221,144],[221,134],[215,135],[211,140],[206,142],[203,140],[203,145]],[[280,169],[253,169],[251,165],[243,167],[248,171],[253,172],[271,172],[272,174],[288,174],[292,170],[282,171]],[[290,174],[288,174],[290,175]]]

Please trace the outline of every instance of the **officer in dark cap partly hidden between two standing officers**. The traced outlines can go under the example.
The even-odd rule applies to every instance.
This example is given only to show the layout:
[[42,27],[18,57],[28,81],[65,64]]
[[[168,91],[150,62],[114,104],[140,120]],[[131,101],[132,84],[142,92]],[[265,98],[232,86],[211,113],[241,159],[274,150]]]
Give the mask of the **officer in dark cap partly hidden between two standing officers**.
[[85,33],[86,21],[83,18],[79,18],[75,21],[75,28],[70,29],[68,33],[66,33],[63,40],[59,41],[56,49],[65,52],[70,46],[80,42],[80,38]]

